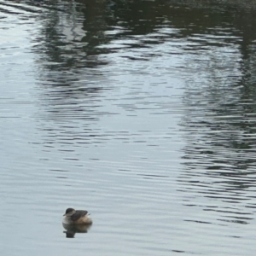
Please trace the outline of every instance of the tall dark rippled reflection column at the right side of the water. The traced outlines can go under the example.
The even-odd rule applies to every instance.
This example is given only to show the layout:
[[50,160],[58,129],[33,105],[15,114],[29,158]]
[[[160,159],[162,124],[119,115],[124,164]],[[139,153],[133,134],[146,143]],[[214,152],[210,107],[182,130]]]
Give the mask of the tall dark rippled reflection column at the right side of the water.
[[[246,56],[234,42],[224,41],[225,45],[189,56],[191,75],[186,82],[186,115],[181,122],[187,145],[183,148],[185,169],[179,182],[187,184],[183,191],[198,198],[193,206],[215,212],[220,221],[249,224],[256,207],[252,201],[256,158],[255,120],[247,113],[252,113],[255,93],[245,95],[241,82],[247,80],[241,61]],[[197,62],[200,59],[204,61]]]

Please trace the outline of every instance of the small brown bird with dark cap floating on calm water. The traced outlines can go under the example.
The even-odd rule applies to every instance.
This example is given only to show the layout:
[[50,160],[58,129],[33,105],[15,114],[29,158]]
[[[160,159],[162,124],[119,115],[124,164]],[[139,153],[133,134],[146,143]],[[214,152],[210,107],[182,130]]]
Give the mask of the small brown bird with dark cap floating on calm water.
[[67,208],[63,216],[65,216],[62,220],[63,224],[92,224],[89,213],[84,210]]

